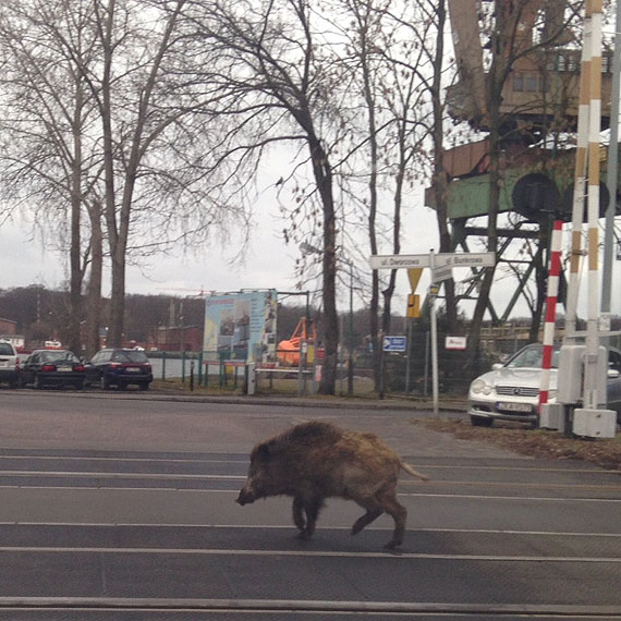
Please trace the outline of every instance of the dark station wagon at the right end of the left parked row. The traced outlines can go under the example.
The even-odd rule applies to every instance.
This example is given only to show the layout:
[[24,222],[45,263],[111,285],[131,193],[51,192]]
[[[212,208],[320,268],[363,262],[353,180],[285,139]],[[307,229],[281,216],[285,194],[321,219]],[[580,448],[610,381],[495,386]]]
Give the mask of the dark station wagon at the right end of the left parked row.
[[145,352],[141,350],[105,349],[97,352],[86,365],[86,382],[101,389],[137,385],[147,390],[154,376]]

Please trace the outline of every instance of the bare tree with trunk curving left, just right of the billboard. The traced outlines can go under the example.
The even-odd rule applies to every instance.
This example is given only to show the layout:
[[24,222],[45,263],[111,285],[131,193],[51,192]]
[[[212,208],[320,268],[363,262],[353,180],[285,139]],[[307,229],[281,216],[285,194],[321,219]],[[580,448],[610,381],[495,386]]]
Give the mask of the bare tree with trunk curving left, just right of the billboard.
[[[303,208],[312,211],[315,202],[320,206],[325,360],[319,390],[333,393],[339,321],[338,207],[331,148],[339,133],[334,95],[339,93],[339,83],[332,69],[331,46],[321,35],[329,22],[307,0],[263,4],[220,0],[197,3],[192,14],[198,36],[215,50],[222,66],[222,93],[228,96],[212,111],[222,118],[235,118],[234,124],[245,130],[247,142],[230,147],[228,155],[257,150],[263,154],[275,142],[303,144],[308,154],[303,159],[312,171],[309,194],[299,192],[293,178],[277,183],[290,181],[295,185],[299,204],[293,209],[294,220],[302,217]],[[285,239],[297,240],[294,221],[284,234]]]

